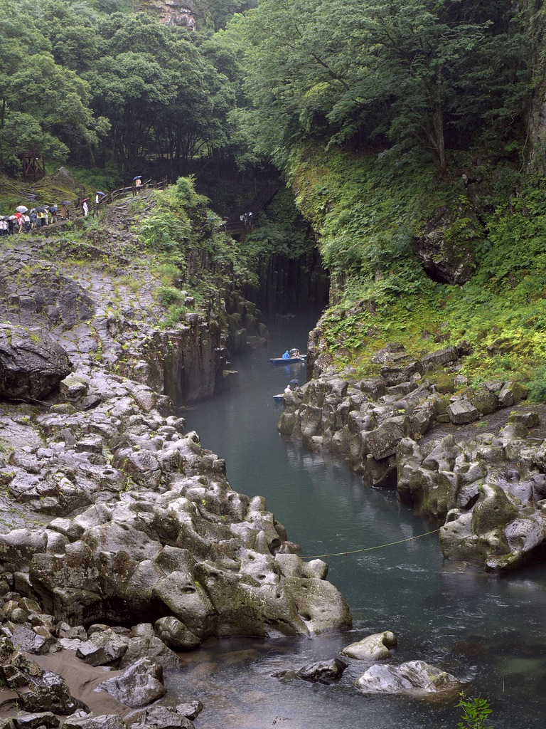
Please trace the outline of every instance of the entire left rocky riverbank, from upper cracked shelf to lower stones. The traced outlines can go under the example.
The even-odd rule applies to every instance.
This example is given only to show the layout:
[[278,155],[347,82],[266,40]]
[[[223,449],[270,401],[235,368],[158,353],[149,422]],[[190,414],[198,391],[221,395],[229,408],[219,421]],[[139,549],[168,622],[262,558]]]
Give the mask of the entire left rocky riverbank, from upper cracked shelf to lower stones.
[[[1,726],[189,726],[199,706],[144,709],[184,650],[351,624],[327,566],[301,561],[159,394],[233,381],[227,345],[260,340],[259,312],[232,295],[231,313],[211,302],[159,326],[152,262],[109,215],[96,240],[12,236],[0,252]],[[119,705],[90,701],[100,679]]]

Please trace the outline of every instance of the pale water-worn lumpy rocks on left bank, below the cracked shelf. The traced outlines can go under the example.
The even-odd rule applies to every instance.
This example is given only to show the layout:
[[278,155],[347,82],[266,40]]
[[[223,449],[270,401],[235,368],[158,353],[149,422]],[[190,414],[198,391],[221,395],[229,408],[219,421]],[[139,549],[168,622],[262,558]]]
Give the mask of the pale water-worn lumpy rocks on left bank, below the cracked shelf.
[[[47,526],[0,534],[3,568],[20,575],[28,596],[71,625],[164,615],[161,635],[177,650],[213,635],[350,625],[325,564],[277,555],[285,532],[264,499],[232,491],[223,461],[181,432],[181,418],[160,416],[153,391],[95,370],[76,374],[84,397],[100,405],[37,416],[33,426],[50,446],[16,449],[0,467],[12,499],[50,517]],[[125,651],[136,657],[138,640],[155,655],[155,637],[100,634],[79,655],[122,664]]]

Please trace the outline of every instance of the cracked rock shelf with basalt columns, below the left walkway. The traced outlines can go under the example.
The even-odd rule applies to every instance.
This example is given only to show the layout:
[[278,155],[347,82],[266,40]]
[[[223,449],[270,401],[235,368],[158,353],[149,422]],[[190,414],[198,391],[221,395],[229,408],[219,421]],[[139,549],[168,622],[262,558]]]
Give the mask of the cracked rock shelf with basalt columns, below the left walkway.
[[183,324],[165,327],[161,281],[130,223],[117,206],[84,241],[25,238],[3,249],[0,316],[50,331],[75,364],[91,359],[176,406],[236,386],[230,353],[264,345],[261,311],[238,292],[218,292],[206,309],[186,296]]

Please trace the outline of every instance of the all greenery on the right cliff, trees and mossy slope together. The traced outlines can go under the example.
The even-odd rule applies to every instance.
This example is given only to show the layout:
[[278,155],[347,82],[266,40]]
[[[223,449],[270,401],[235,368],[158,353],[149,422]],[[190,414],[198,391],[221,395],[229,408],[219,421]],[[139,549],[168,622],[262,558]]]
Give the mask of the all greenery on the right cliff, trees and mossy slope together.
[[[526,171],[541,9],[264,0],[237,27],[245,123],[331,272],[323,351],[370,373],[387,342],[418,356],[464,339],[473,381],[523,377],[542,398],[546,187]],[[442,260],[465,275],[435,275]]]

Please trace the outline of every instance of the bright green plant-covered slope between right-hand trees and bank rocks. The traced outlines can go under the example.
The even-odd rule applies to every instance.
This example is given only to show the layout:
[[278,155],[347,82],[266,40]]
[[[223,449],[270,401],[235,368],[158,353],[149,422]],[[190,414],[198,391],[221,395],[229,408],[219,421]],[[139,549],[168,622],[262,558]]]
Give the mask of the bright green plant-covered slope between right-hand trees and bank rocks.
[[[298,207],[320,238],[332,275],[320,321],[333,362],[374,371],[393,340],[416,356],[463,338],[463,374],[515,375],[542,395],[546,338],[546,184],[509,162],[458,160],[451,179],[430,165],[319,149],[293,155]],[[441,254],[468,267],[464,284],[432,280],[416,254],[441,219]],[[435,277],[438,279],[438,277]],[[546,391],[546,388],[545,388]]]

